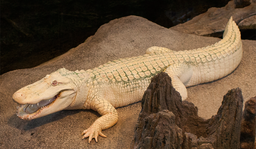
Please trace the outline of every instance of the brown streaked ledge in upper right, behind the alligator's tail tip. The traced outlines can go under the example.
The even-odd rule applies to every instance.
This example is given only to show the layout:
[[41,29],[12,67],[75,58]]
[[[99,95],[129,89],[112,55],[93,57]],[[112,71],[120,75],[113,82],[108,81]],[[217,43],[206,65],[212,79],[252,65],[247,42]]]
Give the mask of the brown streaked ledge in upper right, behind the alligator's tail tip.
[[231,16],[237,23],[239,29],[256,29],[255,15],[256,3],[251,3],[247,7],[236,9],[234,1],[229,1],[225,7],[210,8],[207,12],[194,17],[190,21],[178,24],[170,29],[186,34],[222,38],[226,22]]

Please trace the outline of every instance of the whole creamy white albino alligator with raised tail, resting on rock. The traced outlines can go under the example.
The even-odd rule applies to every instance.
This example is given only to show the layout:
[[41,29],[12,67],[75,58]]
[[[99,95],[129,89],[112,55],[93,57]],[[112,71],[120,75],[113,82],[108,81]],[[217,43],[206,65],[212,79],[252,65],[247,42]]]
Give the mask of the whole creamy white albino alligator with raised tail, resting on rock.
[[189,51],[150,47],[146,53],[113,60],[93,70],[62,68],[46,75],[13,94],[18,103],[17,116],[35,119],[63,109],[93,109],[102,116],[82,135],[89,137],[89,143],[93,138],[97,142],[98,135],[106,137],[102,130],[117,123],[115,108],[141,100],[157,73],[166,72],[184,100],[186,87],[231,73],[239,65],[243,51],[239,29],[231,17],[223,39],[214,45]]

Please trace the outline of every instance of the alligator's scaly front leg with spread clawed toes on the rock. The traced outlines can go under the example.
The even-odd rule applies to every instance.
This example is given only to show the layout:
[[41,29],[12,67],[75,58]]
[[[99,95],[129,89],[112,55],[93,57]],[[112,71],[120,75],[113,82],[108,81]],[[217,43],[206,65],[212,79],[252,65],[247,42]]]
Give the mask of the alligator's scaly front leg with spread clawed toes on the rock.
[[97,142],[99,135],[106,137],[106,135],[102,133],[102,130],[112,127],[118,121],[118,113],[116,109],[107,100],[97,100],[92,104],[95,104],[92,109],[102,116],[81,134],[84,134],[82,139],[89,137],[89,143],[93,138],[95,138],[95,141]]

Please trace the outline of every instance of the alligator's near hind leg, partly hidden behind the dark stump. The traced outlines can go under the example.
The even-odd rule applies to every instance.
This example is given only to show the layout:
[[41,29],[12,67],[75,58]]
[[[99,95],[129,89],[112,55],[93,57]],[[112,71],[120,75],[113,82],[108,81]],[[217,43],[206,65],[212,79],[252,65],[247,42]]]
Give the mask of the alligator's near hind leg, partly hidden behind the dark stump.
[[182,100],[185,100],[188,97],[185,85],[193,75],[192,68],[186,64],[173,64],[167,67],[164,72],[171,77],[173,87],[179,92]]

